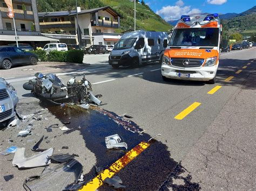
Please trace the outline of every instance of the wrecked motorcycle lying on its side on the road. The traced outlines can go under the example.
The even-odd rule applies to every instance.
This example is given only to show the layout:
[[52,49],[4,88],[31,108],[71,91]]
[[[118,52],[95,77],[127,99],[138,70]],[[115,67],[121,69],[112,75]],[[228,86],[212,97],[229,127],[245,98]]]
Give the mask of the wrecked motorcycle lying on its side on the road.
[[38,97],[43,97],[51,102],[67,98],[76,98],[78,103],[95,102],[97,105],[101,102],[92,94],[91,83],[85,79],[85,74],[81,80],[76,77],[71,78],[67,85],[54,74],[36,73],[36,78],[23,84],[25,90],[31,90],[31,93]]

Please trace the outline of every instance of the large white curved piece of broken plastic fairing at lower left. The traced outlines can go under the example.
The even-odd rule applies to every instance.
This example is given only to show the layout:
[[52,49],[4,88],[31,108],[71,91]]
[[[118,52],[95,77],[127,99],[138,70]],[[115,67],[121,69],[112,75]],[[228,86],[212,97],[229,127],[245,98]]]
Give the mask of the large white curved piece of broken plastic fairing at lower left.
[[18,166],[19,168],[46,166],[50,164],[48,157],[52,155],[53,148],[49,148],[48,150],[33,155],[29,158],[25,158],[24,152],[25,148],[17,148],[14,155],[14,160],[12,160],[13,166]]

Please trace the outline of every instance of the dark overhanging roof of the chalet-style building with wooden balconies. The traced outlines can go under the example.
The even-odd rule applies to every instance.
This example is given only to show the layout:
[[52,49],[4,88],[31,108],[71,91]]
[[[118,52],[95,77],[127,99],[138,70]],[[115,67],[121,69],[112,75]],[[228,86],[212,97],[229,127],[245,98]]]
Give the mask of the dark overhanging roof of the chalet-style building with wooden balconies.
[[[111,15],[119,16],[123,18],[117,11],[111,8],[111,6],[103,6],[102,8],[95,8],[95,9],[87,9],[87,10],[81,10],[81,12],[78,12],[78,15],[80,14],[86,14],[86,13],[94,13],[98,11],[107,11]],[[39,12],[38,17],[61,17],[61,16],[73,16],[76,15],[76,10],[72,11],[56,11],[56,12]]]

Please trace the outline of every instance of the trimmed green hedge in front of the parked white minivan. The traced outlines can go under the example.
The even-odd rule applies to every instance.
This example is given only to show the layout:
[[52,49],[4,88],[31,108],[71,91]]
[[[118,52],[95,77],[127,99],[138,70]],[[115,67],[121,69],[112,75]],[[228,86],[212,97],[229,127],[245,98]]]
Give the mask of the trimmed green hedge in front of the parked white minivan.
[[38,49],[31,52],[38,56],[39,61],[83,63],[84,59],[84,53],[80,50],[50,51],[46,53],[44,50]]

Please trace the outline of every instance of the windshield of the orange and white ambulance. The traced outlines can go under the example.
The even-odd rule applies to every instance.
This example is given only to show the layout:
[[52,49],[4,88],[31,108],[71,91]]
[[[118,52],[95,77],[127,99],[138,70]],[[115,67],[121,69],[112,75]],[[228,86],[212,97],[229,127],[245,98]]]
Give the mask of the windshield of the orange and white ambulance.
[[218,28],[176,29],[169,46],[218,46]]

